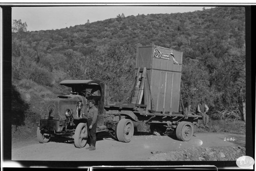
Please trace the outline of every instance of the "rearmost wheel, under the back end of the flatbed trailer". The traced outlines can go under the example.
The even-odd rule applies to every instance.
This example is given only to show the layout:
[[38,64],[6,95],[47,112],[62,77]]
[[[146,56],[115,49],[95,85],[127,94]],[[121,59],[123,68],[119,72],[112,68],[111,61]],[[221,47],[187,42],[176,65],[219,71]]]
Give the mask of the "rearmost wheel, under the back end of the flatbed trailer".
[[182,121],[176,127],[176,136],[181,141],[189,141],[193,133],[193,125],[190,122]]

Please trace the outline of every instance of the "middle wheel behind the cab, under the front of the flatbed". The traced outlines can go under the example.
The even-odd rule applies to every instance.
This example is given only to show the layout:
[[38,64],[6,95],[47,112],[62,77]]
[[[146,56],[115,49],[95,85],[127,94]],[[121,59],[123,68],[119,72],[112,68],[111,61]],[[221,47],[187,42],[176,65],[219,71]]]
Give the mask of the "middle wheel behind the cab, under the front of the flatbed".
[[117,124],[116,137],[120,142],[130,142],[134,133],[134,125],[130,119],[121,119]]

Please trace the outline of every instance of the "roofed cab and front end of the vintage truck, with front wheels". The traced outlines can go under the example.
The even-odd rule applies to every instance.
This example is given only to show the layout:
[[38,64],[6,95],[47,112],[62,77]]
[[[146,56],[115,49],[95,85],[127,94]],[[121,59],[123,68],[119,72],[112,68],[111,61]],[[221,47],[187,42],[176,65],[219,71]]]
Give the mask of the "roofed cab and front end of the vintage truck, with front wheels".
[[99,80],[63,80],[60,85],[72,91],[47,103],[37,128],[37,139],[45,143],[52,136],[61,136],[74,139],[76,147],[83,147],[87,141],[89,100],[95,100],[99,111],[97,131],[106,130],[103,121],[105,84]]

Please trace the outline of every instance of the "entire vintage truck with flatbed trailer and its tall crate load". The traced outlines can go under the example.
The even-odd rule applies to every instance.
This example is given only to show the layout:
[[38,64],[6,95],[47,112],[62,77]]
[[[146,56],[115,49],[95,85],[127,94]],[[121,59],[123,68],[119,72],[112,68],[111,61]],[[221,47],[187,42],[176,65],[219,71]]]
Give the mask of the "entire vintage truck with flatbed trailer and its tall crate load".
[[[74,140],[75,147],[87,143],[88,100],[94,99],[99,114],[97,133],[109,132],[114,139],[130,142],[134,123],[150,124],[163,134],[172,130],[181,141],[193,136],[193,123],[202,119],[180,108],[182,52],[145,46],[137,49],[134,84],[122,102],[109,101],[109,87],[101,80],[63,80],[72,89],[48,102],[38,128],[37,139],[52,137]],[[182,110],[181,110],[182,109]]]

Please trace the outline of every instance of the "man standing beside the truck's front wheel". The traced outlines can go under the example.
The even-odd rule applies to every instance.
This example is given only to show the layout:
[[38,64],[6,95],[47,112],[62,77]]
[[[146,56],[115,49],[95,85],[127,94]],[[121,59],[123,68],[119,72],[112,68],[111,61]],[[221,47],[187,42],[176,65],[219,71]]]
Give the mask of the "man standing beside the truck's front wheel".
[[93,151],[96,149],[96,128],[97,128],[97,117],[98,109],[95,106],[96,102],[94,99],[89,100],[89,112],[87,121],[88,139],[87,143],[90,145],[86,149]]

